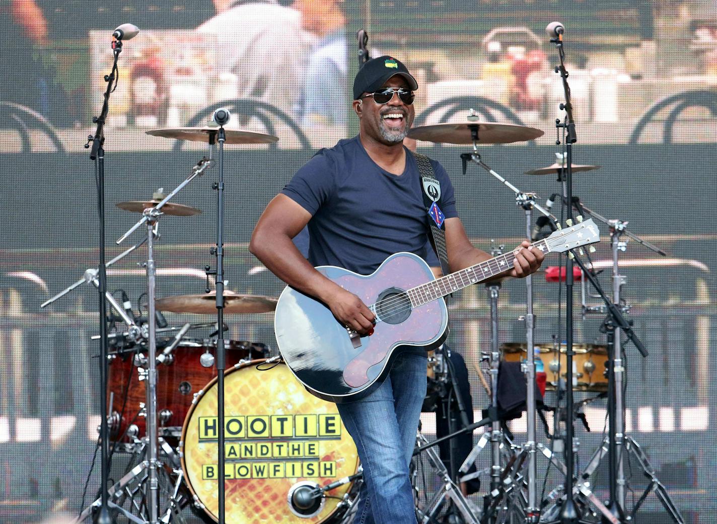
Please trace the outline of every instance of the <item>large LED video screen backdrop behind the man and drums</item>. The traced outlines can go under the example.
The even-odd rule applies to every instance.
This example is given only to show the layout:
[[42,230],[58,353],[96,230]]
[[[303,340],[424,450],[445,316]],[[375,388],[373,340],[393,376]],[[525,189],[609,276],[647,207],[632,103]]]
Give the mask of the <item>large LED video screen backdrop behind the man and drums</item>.
[[[232,111],[227,128],[279,138],[269,146],[225,148],[227,289],[275,297],[282,283],[248,252],[247,244],[261,212],[293,173],[318,149],[358,132],[350,94],[359,70],[356,31],[368,32],[371,56],[397,57],[417,78],[414,126],[465,122],[473,110],[483,120],[544,131],[535,141],[478,149],[495,172],[523,191],[536,192],[544,203],[561,192],[555,174],[524,172],[549,166],[564,154],[564,136],[555,124],[564,118],[559,108],[564,91],[554,72],[559,63],[555,46],[544,32],[554,20],[566,27],[578,139],[574,162],[599,166],[574,174],[574,195],[602,217],[627,221],[632,233],[665,252],[660,256],[626,235],[621,238],[626,243],[619,251],[622,298],[650,353],[642,357],[625,344],[627,433],[649,457],[687,522],[716,520],[716,4],[5,0],[0,3],[0,158],[5,167],[0,190],[0,521],[37,523],[58,513],[77,515],[95,499],[99,486],[99,462],[93,455],[103,393],[99,345],[92,340],[99,332],[98,293],[83,280],[88,275],[91,281],[85,271],[97,267],[99,233],[95,174],[83,146],[95,129],[92,116],[102,106],[115,27],[131,22],[141,32],[120,53],[105,127],[108,260],[146,235],[140,228],[115,245],[140,217],[115,204],[167,195],[207,154],[206,144],[146,131],[204,126],[214,109],[227,107]],[[514,193],[498,179],[475,164],[462,173],[460,154],[470,148],[417,144],[419,152],[447,169],[474,245],[485,251],[498,245],[510,249],[526,237],[525,216]],[[217,240],[212,189],[217,176],[217,168],[210,168],[174,197],[201,214],[166,215],[158,222],[158,298],[204,293],[204,266],[214,265],[209,249]],[[559,204],[553,211],[559,214]],[[590,259],[612,296],[609,228],[599,227],[602,241]],[[141,245],[108,268],[108,291],[120,303],[128,299],[138,317],[147,312],[144,260],[146,245]],[[546,258],[546,271],[533,279],[536,343],[545,347],[565,339],[564,286],[547,271],[560,260]],[[515,280],[500,290],[500,342],[525,342],[525,289],[523,281]],[[487,369],[482,355],[490,342],[487,297],[479,284],[450,301],[448,342],[465,358],[478,416],[490,401],[478,379],[478,369]],[[576,282],[575,301],[575,342],[604,345],[604,312],[595,312],[602,302],[594,289]],[[592,312],[582,314],[582,306]],[[164,317],[168,328],[204,324],[186,334],[174,362],[159,368],[160,383],[169,390],[189,384],[182,400],[171,404],[176,419],[171,426],[181,428],[191,396],[212,379],[199,358],[209,347],[213,319],[171,312]],[[271,313],[227,314],[225,322],[227,339],[237,347],[255,345],[255,356],[277,355]],[[125,327],[116,314],[112,327],[118,332]],[[176,331],[164,333],[174,337]],[[119,380],[122,359],[115,360],[110,374]],[[123,388],[139,387],[136,369],[130,372],[133,384],[114,384],[119,393],[113,408],[133,413],[129,418],[141,411],[133,396],[128,403],[122,398]],[[281,388],[262,373],[272,376],[271,370],[252,369],[247,380],[279,385],[267,387],[263,400],[255,395],[242,402],[251,403],[247,413],[263,416],[271,413],[261,403],[268,406]],[[595,395],[576,393],[576,401]],[[547,393],[547,403],[554,399],[554,392]],[[590,431],[576,421],[579,468],[604,437],[605,400],[591,400],[581,412]],[[435,424],[435,414],[424,413],[424,433],[431,438]],[[511,422],[516,441],[524,441],[525,427],[525,418]],[[475,441],[480,434],[475,432]],[[168,441],[176,437],[167,435]],[[549,445],[542,425],[538,441]],[[313,457],[307,449],[303,453]],[[337,453],[346,454],[345,448]],[[113,480],[128,460],[121,449],[115,452]],[[487,453],[479,464],[487,467]],[[546,469],[539,455],[541,487]],[[634,459],[627,477],[632,505],[648,479]],[[560,478],[551,468],[546,492]],[[597,495],[607,498],[607,460],[594,482]],[[267,486],[273,489],[268,480]],[[480,505],[485,490],[484,485],[471,500]],[[257,500],[260,504],[270,507],[271,515],[288,513],[285,494]],[[189,510],[185,513],[188,521],[198,521]],[[636,521],[672,522],[654,494]]]

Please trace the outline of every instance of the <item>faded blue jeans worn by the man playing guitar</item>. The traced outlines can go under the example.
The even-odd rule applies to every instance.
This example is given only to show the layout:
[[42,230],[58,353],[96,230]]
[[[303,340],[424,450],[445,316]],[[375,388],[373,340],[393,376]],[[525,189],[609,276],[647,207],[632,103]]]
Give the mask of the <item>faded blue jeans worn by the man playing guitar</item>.
[[404,354],[373,393],[338,404],[364,467],[355,523],[416,524],[409,464],[425,396],[426,357]]

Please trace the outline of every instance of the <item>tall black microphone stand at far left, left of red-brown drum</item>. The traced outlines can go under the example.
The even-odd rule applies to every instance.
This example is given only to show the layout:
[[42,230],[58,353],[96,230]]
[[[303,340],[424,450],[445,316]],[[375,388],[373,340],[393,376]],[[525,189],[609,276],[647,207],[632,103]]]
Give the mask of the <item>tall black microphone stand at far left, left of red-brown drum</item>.
[[[122,52],[122,39],[113,37],[112,52],[114,60],[112,71],[109,75],[105,75],[107,89],[105,89],[104,101],[100,116],[92,118],[97,123],[97,129],[94,135],[87,137],[85,149],[90,148],[90,160],[95,163],[95,182],[97,184],[97,210],[99,217],[100,229],[100,261],[98,265],[98,290],[100,296],[100,391],[103,392],[103,398],[100,402],[100,507],[95,513],[95,522],[97,524],[111,524],[114,522],[110,515],[109,507],[113,505],[108,500],[108,477],[109,477],[109,427],[107,421],[107,377],[108,377],[108,332],[107,332],[107,307],[105,304],[105,296],[107,294],[107,266],[105,265],[105,120],[109,111],[110,94],[116,87],[115,79],[117,78],[117,61]],[[114,505],[113,505],[114,506]]]

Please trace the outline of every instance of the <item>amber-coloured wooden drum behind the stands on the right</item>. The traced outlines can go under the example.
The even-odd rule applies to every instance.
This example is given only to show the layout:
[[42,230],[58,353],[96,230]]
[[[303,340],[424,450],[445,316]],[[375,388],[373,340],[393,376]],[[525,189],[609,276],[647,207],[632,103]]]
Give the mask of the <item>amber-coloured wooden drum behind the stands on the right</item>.
[[[553,345],[536,345],[543,361],[546,373],[546,390],[555,390],[558,386],[558,370],[561,378],[567,374],[566,347],[561,345],[556,352]],[[508,342],[500,345],[503,360],[507,362],[523,362],[526,360],[526,345],[523,342]],[[598,344],[574,344],[573,351],[573,389],[576,391],[607,391],[607,347]]]

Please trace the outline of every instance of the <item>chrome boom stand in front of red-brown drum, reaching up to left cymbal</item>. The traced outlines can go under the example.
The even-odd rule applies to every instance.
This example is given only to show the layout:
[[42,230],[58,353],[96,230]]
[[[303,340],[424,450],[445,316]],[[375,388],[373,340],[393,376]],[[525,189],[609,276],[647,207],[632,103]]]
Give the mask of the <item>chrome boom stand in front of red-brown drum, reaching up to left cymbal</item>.
[[145,224],[147,228],[147,326],[148,326],[148,342],[147,342],[147,360],[146,360],[146,426],[147,426],[147,452],[146,462],[148,467],[148,479],[146,486],[147,497],[147,521],[149,524],[158,523],[158,507],[159,507],[159,478],[158,469],[160,464],[158,460],[158,425],[157,425],[157,339],[156,339],[156,267],[154,263],[154,241],[157,236],[158,220],[163,215],[162,207],[171,197],[174,197],[186,184],[192,179],[198,177],[204,172],[204,169],[211,166],[212,162],[208,159],[201,159],[191,170],[191,174],[184,182],[181,182],[169,195],[167,195],[156,207],[149,207],[143,211],[142,217],[133,225],[127,233],[122,235],[117,243],[121,243],[133,231],[137,230],[141,225]]

